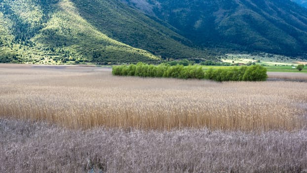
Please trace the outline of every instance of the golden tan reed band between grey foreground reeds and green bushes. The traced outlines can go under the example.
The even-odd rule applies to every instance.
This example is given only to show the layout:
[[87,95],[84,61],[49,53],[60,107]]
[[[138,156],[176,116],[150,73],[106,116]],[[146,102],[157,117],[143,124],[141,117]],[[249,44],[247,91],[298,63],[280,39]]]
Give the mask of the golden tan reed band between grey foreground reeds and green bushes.
[[69,128],[296,130],[307,85],[114,77],[94,67],[0,68],[0,115]]

